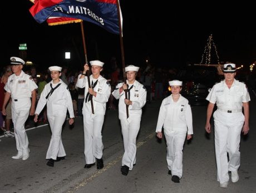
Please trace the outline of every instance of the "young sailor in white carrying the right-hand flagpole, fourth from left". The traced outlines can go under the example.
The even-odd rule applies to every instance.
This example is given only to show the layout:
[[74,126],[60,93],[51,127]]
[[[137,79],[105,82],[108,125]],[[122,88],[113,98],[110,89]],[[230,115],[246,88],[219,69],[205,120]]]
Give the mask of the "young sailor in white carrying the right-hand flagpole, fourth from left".
[[[125,68],[126,84],[119,83],[112,95],[119,99],[119,119],[124,139],[125,153],[122,157],[122,175],[127,175],[136,164],[136,138],[140,130],[141,108],[146,103],[146,88],[135,80],[139,67],[129,65]],[[127,89],[128,99],[124,90]],[[126,115],[126,105],[129,105],[129,118]]]

